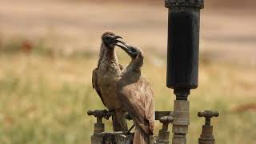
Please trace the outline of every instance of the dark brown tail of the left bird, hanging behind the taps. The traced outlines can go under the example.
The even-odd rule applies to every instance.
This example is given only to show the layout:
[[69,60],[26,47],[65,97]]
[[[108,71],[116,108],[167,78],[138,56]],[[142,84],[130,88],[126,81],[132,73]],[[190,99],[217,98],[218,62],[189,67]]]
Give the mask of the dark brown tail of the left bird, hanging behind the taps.
[[112,115],[114,131],[127,131],[127,123],[124,114],[125,112],[122,110],[114,110],[114,114]]

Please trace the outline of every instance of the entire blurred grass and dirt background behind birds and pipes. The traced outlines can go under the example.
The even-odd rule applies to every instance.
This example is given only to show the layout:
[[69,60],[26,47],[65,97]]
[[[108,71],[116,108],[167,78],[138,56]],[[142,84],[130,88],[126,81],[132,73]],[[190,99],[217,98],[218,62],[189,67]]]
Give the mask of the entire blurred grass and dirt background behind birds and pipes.
[[[202,110],[220,112],[216,143],[256,142],[255,8],[254,0],[206,1],[188,143],[198,143]],[[106,30],[144,50],[156,110],[173,110],[163,0],[0,0],[0,143],[90,143],[95,119],[86,111],[104,109],[91,73]],[[122,50],[118,58],[130,61]]]

